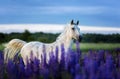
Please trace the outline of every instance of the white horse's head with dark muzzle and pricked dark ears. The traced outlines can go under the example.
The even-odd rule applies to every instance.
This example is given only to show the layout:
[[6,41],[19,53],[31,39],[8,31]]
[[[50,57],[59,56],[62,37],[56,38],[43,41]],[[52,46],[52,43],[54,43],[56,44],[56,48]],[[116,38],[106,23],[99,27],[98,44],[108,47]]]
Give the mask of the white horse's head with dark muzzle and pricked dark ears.
[[81,42],[82,40],[82,35],[80,33],[80,28],[78,27],[79,21],[77,21],[77,23],[74,23],[73,20],[69,23],[69,30],[67,30],[69,32],[69,35],[72,39],[75,39],[79,42]]

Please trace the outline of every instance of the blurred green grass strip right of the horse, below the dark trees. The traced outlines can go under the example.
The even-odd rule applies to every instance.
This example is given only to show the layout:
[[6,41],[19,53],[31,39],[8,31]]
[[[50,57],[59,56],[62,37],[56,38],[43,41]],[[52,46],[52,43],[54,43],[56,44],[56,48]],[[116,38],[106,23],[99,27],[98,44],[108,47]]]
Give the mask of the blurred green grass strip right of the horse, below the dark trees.
[[[81,51],[89,50],[109,50],[112,51],[115,48],[120,48],[120,43],[80,43]],[[75,45],[73,46],[75,48]]]

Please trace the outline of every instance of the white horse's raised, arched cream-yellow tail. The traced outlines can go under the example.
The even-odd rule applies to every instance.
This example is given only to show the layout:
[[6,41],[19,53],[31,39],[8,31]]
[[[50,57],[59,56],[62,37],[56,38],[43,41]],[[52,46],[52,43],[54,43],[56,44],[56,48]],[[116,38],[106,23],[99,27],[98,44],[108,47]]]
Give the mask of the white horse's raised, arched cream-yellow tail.
[[5,63],[8,60],[14,60],[14,57],[20,53],[21,48],[26,44],[25,41],[20,39],[13,39],[11,40],[4,49],[4,61]]

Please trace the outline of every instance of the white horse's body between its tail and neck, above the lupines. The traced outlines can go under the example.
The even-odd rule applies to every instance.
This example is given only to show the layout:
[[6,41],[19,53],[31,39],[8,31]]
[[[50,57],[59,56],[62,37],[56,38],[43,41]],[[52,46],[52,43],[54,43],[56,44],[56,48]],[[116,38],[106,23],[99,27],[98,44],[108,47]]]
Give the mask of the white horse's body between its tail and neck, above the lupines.
[[21,56],[23,58],[24,63],[26,64],[27,60],[31,60],[31,55],[33,58],[38,58],[41,61],[41,56],[43,57],[44,52],[46,53],[47,60],[49,60],[49,55],[51,51],[53,44],[46,44],[42,42],[29,42],[23,46],[21,49]]

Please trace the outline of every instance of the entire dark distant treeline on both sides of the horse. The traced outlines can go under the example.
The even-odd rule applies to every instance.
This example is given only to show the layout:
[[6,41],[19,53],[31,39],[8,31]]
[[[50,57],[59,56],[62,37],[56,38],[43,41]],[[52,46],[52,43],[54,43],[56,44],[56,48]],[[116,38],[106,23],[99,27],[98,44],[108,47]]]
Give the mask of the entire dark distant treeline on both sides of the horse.
[[[57,34],[36,32],[30,33],[25,30],[23,33],[0,33],[0,43],[5,43],[11,39],[18,38],[24,41],[41,41],[51,43],[56,40]],[[82,42],[87,43],[120,43],[120,34],[83,34]]]

